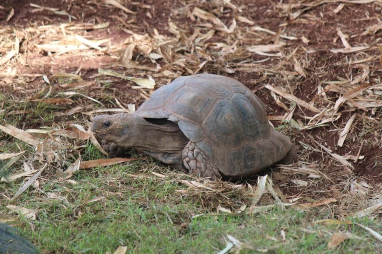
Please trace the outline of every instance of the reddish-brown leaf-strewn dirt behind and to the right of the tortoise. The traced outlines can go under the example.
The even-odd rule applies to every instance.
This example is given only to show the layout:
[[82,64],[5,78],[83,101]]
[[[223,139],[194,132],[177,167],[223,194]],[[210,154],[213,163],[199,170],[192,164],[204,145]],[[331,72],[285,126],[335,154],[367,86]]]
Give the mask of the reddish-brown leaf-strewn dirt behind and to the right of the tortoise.
[[[152,77],[156,88],[181,75],[221,74],[255,92],[272,124],[299,147],[300,164],[273,168],[273,179],[284,194],[338,197],[347,195],[349,186],[360,184],[367,186],[368,195],[379,195],[380,2],[120,2],[130,11],[92,0],[0,2],[2,61],[16,51],[0,65],[0,91],[5,98],[0,113],[7,121],[16,114],[21,117],[15,123],[18,128],[39,129],[26,111],[14,112],[18,101],[53,98],[73,89],[101,101],[103,108],[120,107],[116,99],[124,107],[138,107],[152,93],[137,89],[131,81],[102,76],[99,68]],[[76,35],[100,44],[70,50],[68,45],[83,46],[73,39]],[[81,79],[70,81],[75,84],[71,90],[67,84],[72,83],[57,73]],[[90,85],[78,88],[87,81]],[[56,103],[51,112],[81,109],[56,115],[49,121],[51,127],[88,125],[97,114],[91,113],[93,101],[69,97],[61,95],[67,103]],[[346,125],[347,136],[339,146]],[[11,141],[9,136],[0,137],[0,145]]]

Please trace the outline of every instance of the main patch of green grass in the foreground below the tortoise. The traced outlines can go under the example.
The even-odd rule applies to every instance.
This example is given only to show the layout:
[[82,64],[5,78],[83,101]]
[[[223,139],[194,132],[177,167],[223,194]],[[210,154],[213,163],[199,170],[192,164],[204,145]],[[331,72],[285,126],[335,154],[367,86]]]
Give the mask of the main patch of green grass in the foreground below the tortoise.
[[[148,166],[158,168],[151,161]],[[81,170],[72,178],[76,184],[44,177],[47,182],[40,191],[30,188],[15,202],[2,199],[0,217],[10,216],[5,207],[8,204],[38,209],[35,221],[21,217],[17,226],[42,252],[113,253],[124,245],[131,253],[215,253],[226,246],[227,235],[243,243],[240,253],[259,249],[271,253],[378,253],[381,249],[381,244],[358,226],[312,224],[326,218],[318,211],[274,208],[254,215],[217,215],[219,203],[227,206],[217,193],[201,192],[198,196],[179,184],[178,176],[160,179],[146,172],[150,177],[134,179],[127,175],[141,174],[145,168],[147,161]],[[169,168],[159,169],[171,173]],[[20,184],[15,183],[8,192],[16,192]],[[49,198],[51,193],[58,197]],[[225,195],[250,202],[237,193]],[[105,198],[88,203],[97,197]],[[204,215],[193,218],[197,214]],[[382,230],[380,219],[355,221]],[[286,233],[285,241],[281,229]],[[329,251],[331,234],[338,231],[349,231],[362,239],[347,239]]]

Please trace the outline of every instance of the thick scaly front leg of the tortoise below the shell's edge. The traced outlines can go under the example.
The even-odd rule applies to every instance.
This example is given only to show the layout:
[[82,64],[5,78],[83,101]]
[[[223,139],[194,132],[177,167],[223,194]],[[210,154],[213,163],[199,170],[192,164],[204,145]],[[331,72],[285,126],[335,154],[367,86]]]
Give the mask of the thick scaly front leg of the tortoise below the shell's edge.
[[212,180],[222,177],[210,158],[192,141],[189,141],[184,147],[182,161],[189,174],[209,177]]

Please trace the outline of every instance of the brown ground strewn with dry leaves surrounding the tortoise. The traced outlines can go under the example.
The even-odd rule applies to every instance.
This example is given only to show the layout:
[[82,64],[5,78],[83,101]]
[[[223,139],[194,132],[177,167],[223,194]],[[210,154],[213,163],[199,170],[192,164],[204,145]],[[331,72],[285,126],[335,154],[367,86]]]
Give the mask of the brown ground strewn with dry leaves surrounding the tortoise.
[[[89,1],[83,14],[81,1],[23,3],[34,19],[0,6],[7,14],[0,20],[0,159],[4,180],[14,184],[2,187],[0,200],[26,209],[9,210],[33,220],[35,195],[68,198],[49,193],[76,183],[78,171],[116,163],[96,152],[101,148],[88,131],[93,115],[133,112],[153,88],[208,72],[252,89],[271,122],[299,145],[300,162],[237,183],[137,164],[123,181],[169,184],[208,216],[293,206],[328,214],[334,224],[380,222],[380,2]],[[122,193],[121,175],[115,177],[104,179],[105,195],[75,212],[104,202],[113,189]]]

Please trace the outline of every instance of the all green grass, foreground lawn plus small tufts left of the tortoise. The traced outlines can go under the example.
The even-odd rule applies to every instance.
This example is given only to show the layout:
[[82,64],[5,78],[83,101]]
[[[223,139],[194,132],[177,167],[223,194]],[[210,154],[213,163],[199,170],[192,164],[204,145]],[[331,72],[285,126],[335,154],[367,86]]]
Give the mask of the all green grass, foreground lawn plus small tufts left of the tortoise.
[[[11,106],[13,110],[33,110],[30,114],[4,116],[24,130],[28,128],[23,128],[23,124],[52,125],[56,120],[52,112],[63,110],[41,102]],[[65,122],[60,123],[65,128]],[[278,130],[285,134],[293,131],[289,123]],[[33,161],[33,167],[38,169],[46,160],[45,157],[42,163],[35,160],[32,147],[5,133],[0,133],[0,139],[4,140],[0,153],[26,151],[8,174],[20,172],[23,161]],[[83,161],[104,158],[90,142],[76,145],[85,145],[80,152]],[[140,158],[142,155],[133,155],[140,159],[126,164],[80,170],[70,178],[74,182],[62,181],[59,173],[78,158],[77,152],[69,151],[70,147],[67,151],[55,151],[60,159],[51,163],[39,178],[38,189],[29,187],[15,201],[9,198],[26,179],[0,186],[0,221],[13,220],[9,224],[20,229],[21,235],[36,244],[42,253],[113,253],[118,246],[127,246],[129,253],[217,253],[225,248],[227,235],[242,243],[241,248],[232,249],[233,252],[240,249],[240,253],[382,252],[382,244],[359,226],[312,223],[331,218],[335,209],[331,206],[309,211],[275,207],[252,215],[217,214],[219,206],[231,211],[238,211],[243,204],[250,206],[248,189],[235,189],[228,184],[222,184],[223,187],[217,184],[214,188],[218,191],[189,188],[180,180],[195,179],[173,174],[172,169],[149,157]],[[162,179],[150,171],[167,177]],[[307,200],[309,196],[310,201],[315,201],[314,196],[306,194],[303,198]],[[259,205],[272,203],[270,200],[265,195]],[[37,210],[37,218],[29,220],[12,213],[7,205]],[[382,231],[380,217],[364,217],[354,222]],[[285,231],[285,240],[281,230]],[[351,232],[360,239],[347,239],[329,250],[327,244],[335,232]]]

